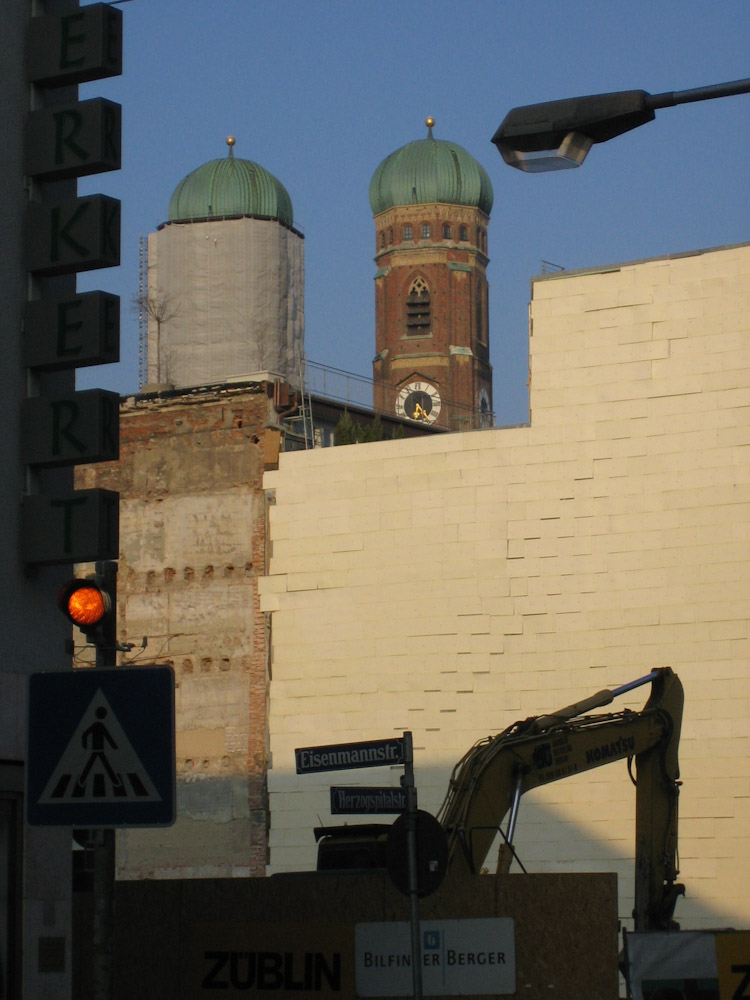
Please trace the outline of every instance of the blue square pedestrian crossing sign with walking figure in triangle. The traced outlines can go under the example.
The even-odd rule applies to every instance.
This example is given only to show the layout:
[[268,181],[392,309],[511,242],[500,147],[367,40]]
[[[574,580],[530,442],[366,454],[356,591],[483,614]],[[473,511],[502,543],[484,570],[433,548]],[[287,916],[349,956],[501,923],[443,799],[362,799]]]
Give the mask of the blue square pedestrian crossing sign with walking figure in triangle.
[[28,733],[30,825],[174,822],[171,668],[33,674]]

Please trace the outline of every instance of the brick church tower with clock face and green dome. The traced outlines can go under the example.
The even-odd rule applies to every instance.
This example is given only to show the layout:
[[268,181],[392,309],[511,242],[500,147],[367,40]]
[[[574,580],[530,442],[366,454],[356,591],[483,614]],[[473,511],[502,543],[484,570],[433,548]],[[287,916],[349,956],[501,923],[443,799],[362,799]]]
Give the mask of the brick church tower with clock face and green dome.
[[449,430],[492,424],[492,184],[456,143],[402,146],[375,171],[375,409]]

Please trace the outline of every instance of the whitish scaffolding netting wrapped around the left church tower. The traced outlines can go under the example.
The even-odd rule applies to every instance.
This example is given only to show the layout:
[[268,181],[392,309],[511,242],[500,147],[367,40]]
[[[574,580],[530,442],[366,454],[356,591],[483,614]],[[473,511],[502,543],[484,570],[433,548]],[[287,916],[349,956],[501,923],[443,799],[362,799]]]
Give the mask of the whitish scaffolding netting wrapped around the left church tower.
[[205,385],[304,354],[304,243],[273,220],[172,223],[148,241],[148,381]]

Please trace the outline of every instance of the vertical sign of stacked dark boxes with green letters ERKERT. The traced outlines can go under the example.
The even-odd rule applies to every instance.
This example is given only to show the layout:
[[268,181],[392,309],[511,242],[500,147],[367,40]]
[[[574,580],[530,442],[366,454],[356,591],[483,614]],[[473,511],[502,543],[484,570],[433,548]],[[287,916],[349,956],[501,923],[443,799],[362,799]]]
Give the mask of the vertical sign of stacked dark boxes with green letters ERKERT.
[[[46,276],[120,263],[120,202],[105,195],[45,198],[44,182],[119,170],[121,108],[94,98],[65,103],[49,89],[122,72],[122,13],[110,4],[32,18],[27,77],[45,106],[26,122],[24,170],[33,181],[25,232],[26,269]],[[65,97],[65,95],[63,95]],[[38,103],[38,102],[37,102]],[[108,364],[120,358],[120,301],[107,292],[60,297],[32,292],[26,308],[24,362],[39,373]],[[31,394],[21,409],[21,457],[32,470],[116,461],[119,397],[98,389]],[[23,500],[27,563],[117,559],[118,495],[111,490],[49,494]]]

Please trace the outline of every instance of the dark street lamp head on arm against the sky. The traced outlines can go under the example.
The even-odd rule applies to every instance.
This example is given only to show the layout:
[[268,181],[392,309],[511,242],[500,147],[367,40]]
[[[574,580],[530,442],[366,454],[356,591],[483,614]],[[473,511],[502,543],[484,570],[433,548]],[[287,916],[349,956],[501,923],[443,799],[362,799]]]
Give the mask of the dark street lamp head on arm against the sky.
[[492,141],[511,167],[537,173],[580,167],[595,142],[653,121],[660,108],[750,93],[750,80],[649,94],[623,90],[513,108]]

